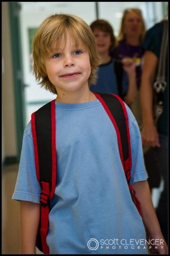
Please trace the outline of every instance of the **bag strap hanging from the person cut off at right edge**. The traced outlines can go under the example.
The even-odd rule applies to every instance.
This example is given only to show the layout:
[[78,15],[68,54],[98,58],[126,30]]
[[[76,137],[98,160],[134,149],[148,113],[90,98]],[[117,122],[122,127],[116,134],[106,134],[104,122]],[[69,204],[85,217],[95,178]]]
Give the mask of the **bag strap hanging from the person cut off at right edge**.
[[157,93],[164,92],[166,88],[166,52],[168,43],[168,22],[164,20],[164,31],[160,48],[160,56],[158,60],[158,72],[153,88]]

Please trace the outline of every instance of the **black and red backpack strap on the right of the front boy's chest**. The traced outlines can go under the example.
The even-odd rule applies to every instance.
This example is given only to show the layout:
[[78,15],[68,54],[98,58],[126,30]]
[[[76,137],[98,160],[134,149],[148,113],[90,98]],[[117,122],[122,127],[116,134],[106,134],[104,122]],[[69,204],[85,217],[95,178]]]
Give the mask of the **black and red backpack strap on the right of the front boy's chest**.
[[128,188],[130,189],[134,204],[141,215],[141,205],[135,196],[134,189],[130,186],[130,171],[132,168],[132,154],[130,146],[130,132],[128,127],[128,115],[125,103],[118,95],[106,93],[94,93],[104,106],[105,111],[111,118],[118,137],[121,163],[127,178]]

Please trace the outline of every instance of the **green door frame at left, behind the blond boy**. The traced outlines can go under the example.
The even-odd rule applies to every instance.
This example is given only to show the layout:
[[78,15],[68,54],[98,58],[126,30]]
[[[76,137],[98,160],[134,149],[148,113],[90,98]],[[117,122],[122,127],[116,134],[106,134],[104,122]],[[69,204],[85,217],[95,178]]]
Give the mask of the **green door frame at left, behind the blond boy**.
[[13,86],[15,102],[15,125],[17,136],[17,156],[15,161],[19,162],[22,148],[22,138],[24,133],[24,83],[22,72],[22,51],[20,35],[20,4],[19,2],[8,2],[10,14],[10,33],[12,45],[12,64],[13,64]]

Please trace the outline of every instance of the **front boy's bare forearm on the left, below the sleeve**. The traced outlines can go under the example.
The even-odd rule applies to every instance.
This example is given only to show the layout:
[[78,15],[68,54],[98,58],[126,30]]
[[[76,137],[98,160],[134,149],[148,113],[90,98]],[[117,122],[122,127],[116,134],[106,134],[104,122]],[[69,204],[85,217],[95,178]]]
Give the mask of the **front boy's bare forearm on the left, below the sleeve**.
[[20,254],[35,254],[40,204],[20,201]]

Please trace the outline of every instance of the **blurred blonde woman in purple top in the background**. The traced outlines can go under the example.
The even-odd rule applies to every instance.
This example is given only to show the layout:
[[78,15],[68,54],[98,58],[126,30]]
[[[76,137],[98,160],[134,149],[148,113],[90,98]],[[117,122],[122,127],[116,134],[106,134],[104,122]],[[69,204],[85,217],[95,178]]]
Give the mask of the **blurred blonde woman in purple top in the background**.
[[130,57],[134,60],[137,93],[135,94],[130,108],[137,119],[139,127],[141,127],[142,124],[139,97],[143,64],[143,49],[141,47],[141,43],[143,42],[145,33],[146,27],[141,10],[136,8],[125,10],[117,38],[118,46],[111,52],[111,56],[113,56],[115,60],[122,60],[125,57]]

